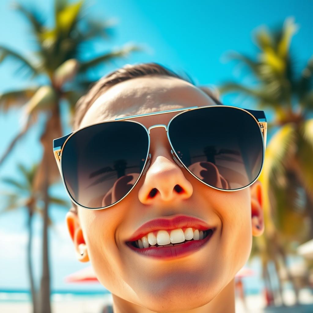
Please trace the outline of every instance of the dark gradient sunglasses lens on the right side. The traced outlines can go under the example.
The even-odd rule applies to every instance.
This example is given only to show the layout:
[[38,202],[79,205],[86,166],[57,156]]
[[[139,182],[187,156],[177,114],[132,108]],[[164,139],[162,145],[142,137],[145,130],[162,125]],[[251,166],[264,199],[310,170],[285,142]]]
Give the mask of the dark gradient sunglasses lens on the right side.
[[226,106],[186,111],[171,121],[168,136],[182,163],[213,187],[239,189],[261,171],[262,133],[246,111]]

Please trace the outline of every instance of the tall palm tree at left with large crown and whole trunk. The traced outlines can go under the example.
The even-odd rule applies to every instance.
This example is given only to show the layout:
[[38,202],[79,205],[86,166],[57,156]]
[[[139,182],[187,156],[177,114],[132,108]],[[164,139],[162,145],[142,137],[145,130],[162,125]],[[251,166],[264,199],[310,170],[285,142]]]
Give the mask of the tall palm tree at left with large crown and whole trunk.
[[4,111],[13,105],[19,105],[22,106],[23,112],[21,131],[0,158],[0,165],[8,157],[16,142],[37,121],[38,114],[44,112],[47,118],[40,137],[43,158],[34,177],[34,188],[41,192],[45,203],[40,309],[42,313],[51,312],[47,238],[48,189],[52,183],[60,180],[51,145],[54,138],[63,136],[60,121],[61,106],[68,105],[70,113],[74,112],[76,101],[94,81],[90,79],[90,69],[95,69],[112,59],[126,57],[131,52],[141,51],[141,48],[135,45],[125,45],[121,49],[84,60],[82,54],[84,47],[88,47],[90,52],[92,40],[108,38],[110,25],[86,16],[83,17],[83,3],[83,0],[74,3],[69,3],[68,0],[55,0],[54,26],[52,28],[45,26],[39,12],[30,10],[22,4],[16,4],[15,8],[31,26],[36,43],[36,49],[33,51],[34,58],[29,60],[18,52],[0,45],[0,63],[11,58],[31,73],[32,78],[36,78],[37,82],[45,82],[35,87],[11,90],[0,95],[0,108]]

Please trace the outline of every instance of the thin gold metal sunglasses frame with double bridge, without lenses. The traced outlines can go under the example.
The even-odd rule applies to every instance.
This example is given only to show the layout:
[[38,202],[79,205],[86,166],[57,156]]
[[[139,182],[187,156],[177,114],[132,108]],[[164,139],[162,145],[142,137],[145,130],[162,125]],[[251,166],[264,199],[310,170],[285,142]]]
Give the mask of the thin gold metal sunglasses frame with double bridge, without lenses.
[[[220,103],[220,102],[218,102]],[[248,113],[249,115],[251,115],[254,119],[254,121],[257,123],[257,125],[259,126],[259,131],[260,131],[260,134],[261,134],[261,137],[262,137],[262,142],[263,142],[263,156],[262,156],[262,166],[261,166],[261,169],[260,169],[260,172],[259,172],[259,175],[254,179],[253,182],[251,182],[249,185],[247,186],[244,186],[244,187],[241,187],[241,188],[238,188],[238,189],[221,189],[221,188],[217,188],[217,187],[214,187],[214,186],[211,186],[209,184],[207,184],[206,182],[203,182],[201,179],[199,179],[196,175],[194,175],[184,164],[183,162],[179,159],[179,156],[177,155],[177,153],[173,150],[174,147],[172,146],[172,142],[170,140],[170,137],[169,137],[169,134],[168,134],[168,127],[169,125],[171,124],[172,120],[177,117],[178,115],[181,115],[187,111],[190,111],[190,110],[198,110],[198,109],[203,109],[203,108],[208,108],[208,107],[216,107],[216,106],[222,106],[222,107],[231,107],[231,108],[235,108],[235,109],[238,109],[238,110],[243,110],[245,111],[246,113]],[[85,207],[79,203],[77,203],[73,197],[71,196],[71,194],[69,193],[68,191],[68,188],[66,186],[66,183],[64,181],[64,176],[63,176],[63,170],[62,170],[62,152],[63,152],[63,149],[64,149],[64,146],[66,144],[66,142],[69,140],[70,137],[72,137],[75,133],[77,133],[78,131],[81,131],[87,127],[90,127],[90,126],[94,126],[94,125],[98,125],[98,124],[104,124],[104,123],[108,123],[108,122],[113,122],[113,121],[125,121],[125,120],[128,120],[128,119],[133,119],[133,118],[136,118],[136,117],[141,117],[141,116],[150,116],[150,115],[157,115],[157,114],[165,114],[165,113],[170,113],[170,112],[175,112],[175,111],[182,111],[178,114],[176,114],[175,116],[172,117],[172,119],[168,122],[167,125],[164,125],[164,124],[156,124],[156,125],[152,125],[150,126],[148,129],[146,128],[146,126],[144,126],[143,124],[137,122],[137,121],[129,121],[129,122],[132,122],[132,123],[137,123],[137,124],[140,124],[147,132],[147,135],[148,135],[148,151],[147,151],[147,155],[146,155],[146,159],[145,159],[145,164],[142,168],[142,171],[140,173],[140,175],[138,176],[136,182],[134,183],[134,185],[131,187],[131,189],[126,193],[126,195],[121,198],[120,200],[116,201],[115,203],[112,203],[110,204],[109,206],[106,206],[106,207],[103,207],[103,208],[89,208],[89,207]],[[252,114],[253,113],[253,114]],[[235,124],[234,124],[235,126]],[[212,187],[214,189],[217,189],[217,190],[221,190],[221,191],[228,191],[228,192],[232,192],[232,191],[238,191],[238,190],[242,190],[242,189],[245,189],[249,186],[251,186],[258,178],[259,176],[261,175],[261,172],[262,172],[262,169],[263,169],[263,166],[264,166],[264,156],[265,156],[265,148],[266,148],[266,136],[267,136],[267,121],[266,121],[266,117],[265,117],[265,113],[264,111],[261,111],[261,110],[250,110],[250,109],[243,109],[243,108],[239,108],[239,107],[236,107],[236,106],[232,106],[232,105],[223,105],[223,104],[220,104],[220,105],[207,105],[207,106],[192,106],[192,107],[188,107],[188,108],[182,108],[182,109],[174,109],[174,110],[165,110],[165,111],[159,111],[159,112],[153,112],[153,113],[146,113],[146,114],[139,114],[139,115],[131,115],[131,116],[126,116],[126,117],[121,117],[121,118],[115,118],[114,120],[110,120],[110,121],[101,121],[101,122],[98,122],[98,123],[94,123],[94,124],[91,124],[91,125],[88,125],[88,126],[85,126],[85,127],[82,127],[76,131],[73,131],[71,133],[69,133],[68,135],[65,135],[63,137],[60,137],[60,138],[56,138],[53,140],[53,152],[54,152],[54,157],[55,157],[55,160],[57,162],[57,165],[58,165],[58,168],[59,168],[59,172],[61,174],[61,177],[62,177],[62,181],[63,181],[63,184],[64,184],[64,187],[65,187],[65,190],[69,196],[69,198],[72,200],[73,203],[75,203],[77,206],[80,206],[80,207],[83,207],[83,208],[86,208],[86,209],[90,209],[90,210],[102,210],[102,209],[106,209],[106,208],[110,208],[112,207],[113,205],[121,202],[132,190],[133,188],[137,185],[139,179],[141,178],[141,176],[144,176],[146,174],[146,171],[147,169],[149,168],[149,165],[150,165],[150,160],[151,160],[151,153],[149,153],[150,151],[150,130],[153,129],[153,128],[156,128],[156,127],[164,127],[166,132],[167,132],[167,138],[168,138],[168,141],[170,143],[170,146],[172,147],[172,150],[171,150],[171,154],[172,154],[172,157],[174,159],[174,161],[177,163],[177,165],[179,165],[180,167],[184,167],[193,177],[195,177],[196,179],[198,179],[200,182],[202,182],[203,184],[205,184],[206,186],[208,187]]]

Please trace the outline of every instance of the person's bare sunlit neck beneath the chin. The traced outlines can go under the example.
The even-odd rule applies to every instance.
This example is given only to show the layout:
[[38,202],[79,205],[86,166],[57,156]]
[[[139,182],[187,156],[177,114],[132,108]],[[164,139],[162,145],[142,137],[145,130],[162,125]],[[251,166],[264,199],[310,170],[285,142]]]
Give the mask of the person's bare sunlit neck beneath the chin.
[[[113,312],[114,313],[156,313],[142,307],[140,305],[126,301],[114,294],[113,297]],[[173,311],[166,313],[235,313],[235,283],[232,279],[228,285],[222,289],[209,303],[187,311]]]

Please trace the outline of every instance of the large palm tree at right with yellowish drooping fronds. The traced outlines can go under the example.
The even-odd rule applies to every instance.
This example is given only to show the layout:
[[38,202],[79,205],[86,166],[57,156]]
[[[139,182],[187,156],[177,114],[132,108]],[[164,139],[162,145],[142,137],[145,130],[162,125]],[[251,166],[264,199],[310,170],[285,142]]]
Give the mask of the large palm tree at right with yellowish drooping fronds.
[[[266,228],[264,236],[254,241],[254,251],[258,251],[262,263],[271,260],[277,269],[277,256],[288,269],[286,251],[295,252],[290,244],[293,240],[313,238],[313,58],[297,77],[290,56],[291,39],[297,29],[293,18],[286,18],[278,31],[259,29],[254,36],[259,48],[255,60],[244,54],[229,54],[230,59],[248,68],[257,83],[246,86],[225,82],[219,88],[221,93],[240,92],[256,100],[259,109],[272,110],[275,115],[274,121],[268,122],[269,132],[275,133],[266,147],[259,177],[265,191]],[[310,227],[304,224],[307,217]],[[294,287],[297,296],[297,286]]]

